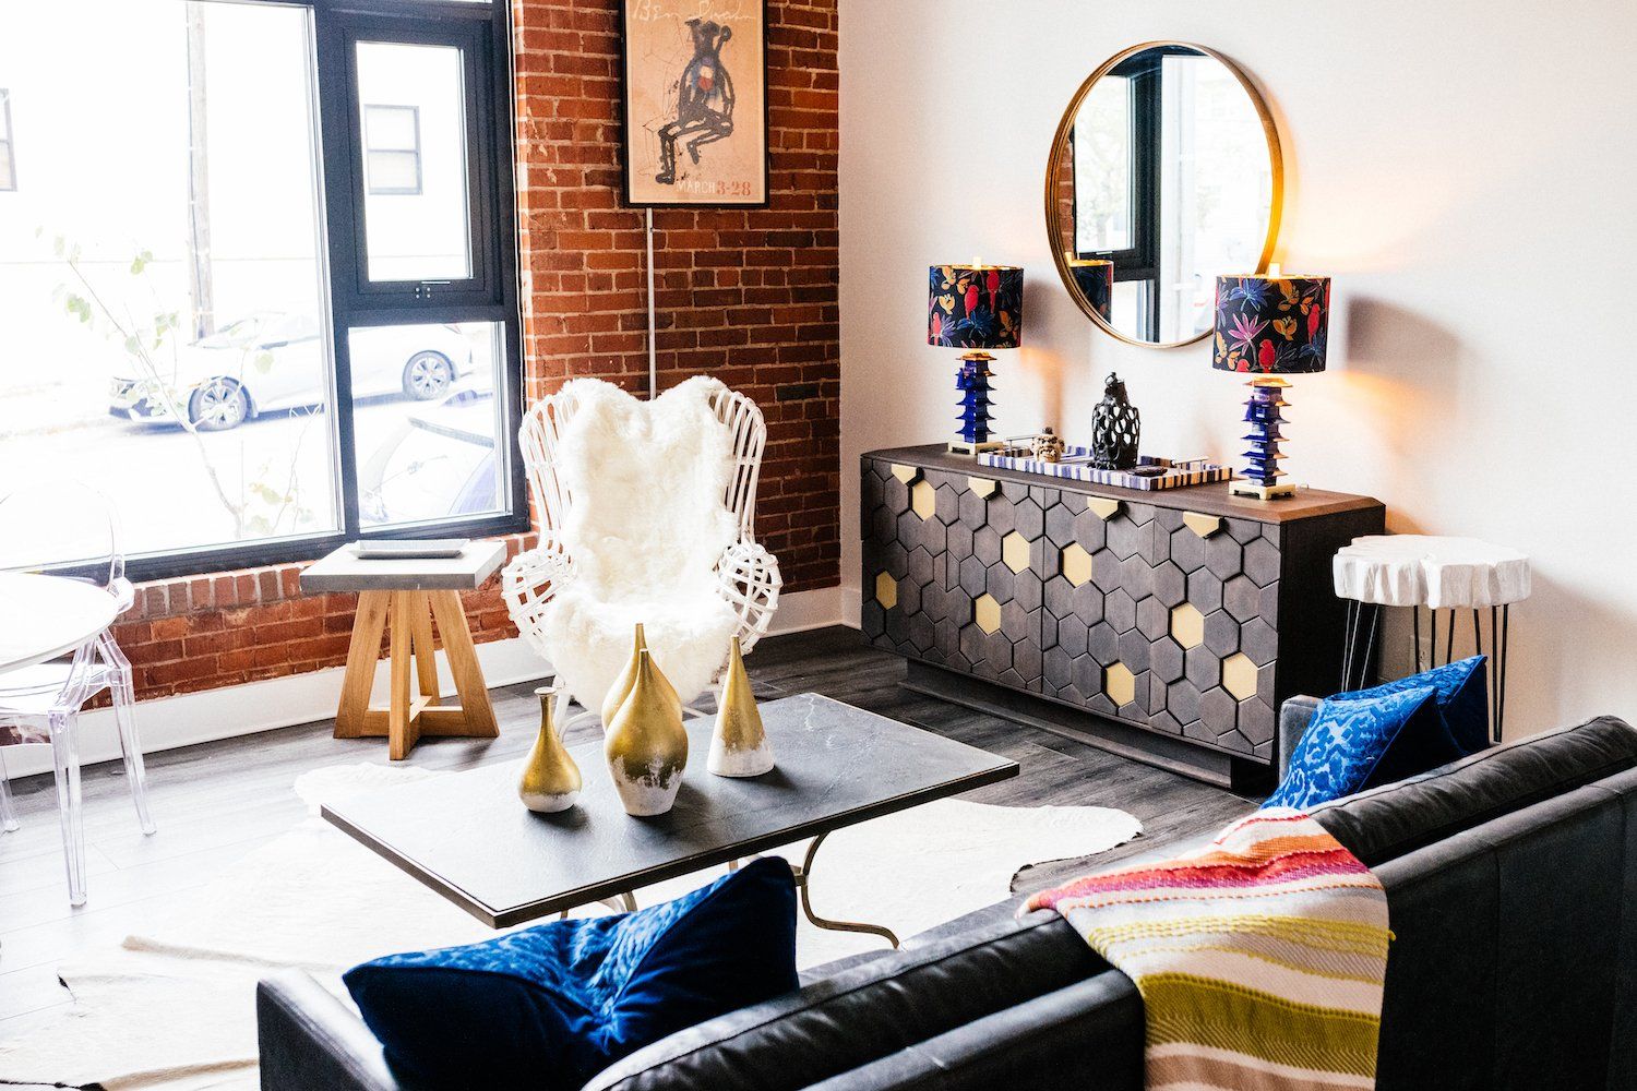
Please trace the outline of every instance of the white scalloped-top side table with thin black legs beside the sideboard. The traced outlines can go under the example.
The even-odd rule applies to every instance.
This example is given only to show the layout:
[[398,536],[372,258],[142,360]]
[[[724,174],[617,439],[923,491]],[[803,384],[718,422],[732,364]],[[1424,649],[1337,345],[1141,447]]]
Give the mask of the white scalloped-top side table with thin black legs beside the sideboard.
[[[1529,558],[1478,538],[1370,535],[1342,546],[1334,561],[1336,595],[1347,600],[1342,653],[1344,690],[1360,689],[1375,654],[1382,607],[1413,610],[1414,661],[1423,671],[1421,610],[1431,626],[1427,667],[1439,666],[1437,613],[1449,610],[1444,659],[1455,658],[1455,625],[1472,612],[1472,646],[1490,658],[1490,725],[1496,743],[1506,720],[1506,643],[1511,605],[1529,597]],[[1485,651],[1483,610],[1490,612]]]

